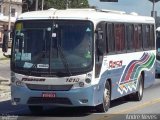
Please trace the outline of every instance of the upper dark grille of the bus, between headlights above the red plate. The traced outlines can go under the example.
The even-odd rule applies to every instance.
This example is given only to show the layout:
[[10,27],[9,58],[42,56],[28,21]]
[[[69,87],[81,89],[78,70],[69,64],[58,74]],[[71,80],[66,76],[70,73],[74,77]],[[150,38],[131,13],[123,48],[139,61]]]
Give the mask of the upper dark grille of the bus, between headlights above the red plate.
[[35,85],[35,84],[26,84],[30,90],[39,90],[39,91],[68,91],[72,88],[73,85]]

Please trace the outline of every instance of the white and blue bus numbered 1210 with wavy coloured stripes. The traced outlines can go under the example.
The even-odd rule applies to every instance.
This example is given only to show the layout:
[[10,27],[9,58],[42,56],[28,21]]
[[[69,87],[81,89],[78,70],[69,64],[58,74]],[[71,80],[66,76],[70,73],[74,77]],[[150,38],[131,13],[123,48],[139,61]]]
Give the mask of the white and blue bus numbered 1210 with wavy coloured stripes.
[[11,53],[13,105],[106,112],[119,97],[141,100],[154,82],[155,20],[95,9],[27,12],[15,23]]

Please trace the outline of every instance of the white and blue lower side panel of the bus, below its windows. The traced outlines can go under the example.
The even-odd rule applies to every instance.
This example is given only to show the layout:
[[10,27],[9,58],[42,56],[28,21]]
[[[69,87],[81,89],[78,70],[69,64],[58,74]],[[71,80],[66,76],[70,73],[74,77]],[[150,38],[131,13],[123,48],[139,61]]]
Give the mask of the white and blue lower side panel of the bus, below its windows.
[[138,78],[144,73],[144,87],[155,79],[155,54],[150,51],[104,57],[100,81],[111,80],[111,99],[137,91]]

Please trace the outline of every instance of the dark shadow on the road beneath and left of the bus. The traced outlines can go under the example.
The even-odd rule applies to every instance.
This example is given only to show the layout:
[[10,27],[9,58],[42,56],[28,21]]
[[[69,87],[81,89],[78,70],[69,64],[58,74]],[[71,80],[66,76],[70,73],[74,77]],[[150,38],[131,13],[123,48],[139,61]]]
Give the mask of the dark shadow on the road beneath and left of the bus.
[[[118,98],[111,101],[110,108],[122,105],[130,102],[127,97]],[[132,101],[133,102],[133,101]],[[10,101],[0,103],[0,116],[14,115],[14,116],[26,116],[26,117],[85,117],[93,113],[97,113],[94,107],[45,107],[42,112],[32,114],[27,106],[11,105]]]

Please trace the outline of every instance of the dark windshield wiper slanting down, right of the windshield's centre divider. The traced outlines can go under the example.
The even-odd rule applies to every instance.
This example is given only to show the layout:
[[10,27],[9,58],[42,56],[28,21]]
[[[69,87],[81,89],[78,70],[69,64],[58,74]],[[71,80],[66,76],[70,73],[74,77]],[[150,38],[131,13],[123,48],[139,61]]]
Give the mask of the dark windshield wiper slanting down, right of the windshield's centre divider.
[[65,55],[63,53],[63,50],[62,50],[61,46],[58,44],[57,47],[58,47],[58,51],[59,51],[61,60],[62,60],[62,62],[64,64],[64,67],[65,67],[66,71],[69,73],[70,76],[72,76],[72,73],[71,73],[71,71],[69,69],[68,61],[67,61],[67,59],[66,59],[66,57],[65,57]]

